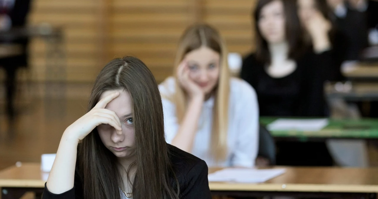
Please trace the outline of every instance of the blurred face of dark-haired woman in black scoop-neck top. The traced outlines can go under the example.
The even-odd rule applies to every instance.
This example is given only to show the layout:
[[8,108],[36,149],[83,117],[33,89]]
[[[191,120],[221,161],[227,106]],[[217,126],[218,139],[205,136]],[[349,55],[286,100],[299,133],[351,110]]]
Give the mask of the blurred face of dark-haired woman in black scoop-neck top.
[[257,20],[262,37],[270,44],[285,41],[285,14],[283,2],[275,0],[266,4]]

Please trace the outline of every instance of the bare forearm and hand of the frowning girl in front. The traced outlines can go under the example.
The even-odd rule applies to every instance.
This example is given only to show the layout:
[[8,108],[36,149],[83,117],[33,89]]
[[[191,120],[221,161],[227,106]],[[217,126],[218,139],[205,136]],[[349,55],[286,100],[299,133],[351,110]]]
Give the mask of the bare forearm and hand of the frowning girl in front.
[[64,131],[46,182],[46,188],[50,193],[62,194],[74,187],[77,144],[96,126],[108,124],[113,126],[118,134],[122,134],[118,116],[113,111],[105,109],[107,103],[118,96],[119,92],[105,96],[91,111],[76,120]]

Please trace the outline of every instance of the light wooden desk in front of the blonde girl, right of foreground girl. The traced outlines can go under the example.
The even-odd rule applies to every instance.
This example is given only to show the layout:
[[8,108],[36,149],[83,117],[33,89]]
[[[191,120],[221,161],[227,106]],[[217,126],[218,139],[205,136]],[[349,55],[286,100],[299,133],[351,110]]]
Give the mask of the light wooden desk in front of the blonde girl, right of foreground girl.
[[[282,168],[282,167],[281,167]],[[210,182],[214,194],[376,198],[378,168],[283,167],[286,172],[262,184]],[[209,169],[214,172],[219,169]]]

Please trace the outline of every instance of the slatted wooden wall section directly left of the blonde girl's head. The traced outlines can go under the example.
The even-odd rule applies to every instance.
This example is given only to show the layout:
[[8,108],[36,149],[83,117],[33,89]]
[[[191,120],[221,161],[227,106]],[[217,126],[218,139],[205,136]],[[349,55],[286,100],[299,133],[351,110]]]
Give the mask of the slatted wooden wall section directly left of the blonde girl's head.
[[158,82],[172,75],[177,42],[193,23],[191,0],[114,0],[111,56],[136,56]]

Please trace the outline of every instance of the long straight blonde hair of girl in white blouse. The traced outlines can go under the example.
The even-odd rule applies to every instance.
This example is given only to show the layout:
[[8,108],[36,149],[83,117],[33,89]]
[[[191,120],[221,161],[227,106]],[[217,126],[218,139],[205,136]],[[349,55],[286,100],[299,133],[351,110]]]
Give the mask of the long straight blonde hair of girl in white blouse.
[[[214,89],[215,103],[210,151],[214,160],[218,161],[225,159],[227,153],[229,69],[225,41],[215,28],[209,25],[193,25],[186,29],[178,45],[173,74],[177,80],[177,67],[184,59],[184,56],[201,46],[206,46],[218,52],[221,59],[218,85]],[[177,81],[175,83],[175,93],[170,99],[175,103],[178,122],[181,123],[187,109],[187,96]]]

